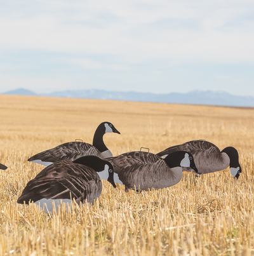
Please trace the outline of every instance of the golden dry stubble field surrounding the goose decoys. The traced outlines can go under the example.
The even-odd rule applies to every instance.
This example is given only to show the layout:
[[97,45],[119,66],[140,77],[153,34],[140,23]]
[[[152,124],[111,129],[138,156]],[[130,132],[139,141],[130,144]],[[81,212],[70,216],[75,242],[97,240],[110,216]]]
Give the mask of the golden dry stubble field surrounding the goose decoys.
[[[254,255],[254,109],[6,95],[0,109],[0,255]],[[141,194],[103,182],[95,205],[53,215],[16,203],[43,169],[30,156],[76,138],[91,143],[101,121],[121,132],[105,135],[114,155],[201,138],[236,147],[243,173],[184,173]]]

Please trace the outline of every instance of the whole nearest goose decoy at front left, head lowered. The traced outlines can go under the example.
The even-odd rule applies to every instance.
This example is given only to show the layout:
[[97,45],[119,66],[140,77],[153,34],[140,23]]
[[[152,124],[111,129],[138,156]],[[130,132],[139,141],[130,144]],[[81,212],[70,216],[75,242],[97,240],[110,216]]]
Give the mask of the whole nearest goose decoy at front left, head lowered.
[[55,205],[76,202],[93,203],[102,192],[102,181],[106,179],[113,187],[114,168],[109,161],[97,156],[83,156],[74,161],[63,160],[44,168],[34,179],[27,183],[17,202],[26,204],[32,201],[43,206],[46,203],[48,210]]

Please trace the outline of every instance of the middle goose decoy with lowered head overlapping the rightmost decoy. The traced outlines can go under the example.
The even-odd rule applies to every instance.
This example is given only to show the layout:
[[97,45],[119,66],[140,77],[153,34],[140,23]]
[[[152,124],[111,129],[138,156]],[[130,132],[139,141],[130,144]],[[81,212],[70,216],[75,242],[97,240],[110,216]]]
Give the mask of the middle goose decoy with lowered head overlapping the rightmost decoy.
[[163,189],[182,179],[182,167],[196,170],[193,157],[184,151],[173,152],[166,158],[144,151],[133,151],[107,158],[114,166],[114,180],[125,185],[125,191]]

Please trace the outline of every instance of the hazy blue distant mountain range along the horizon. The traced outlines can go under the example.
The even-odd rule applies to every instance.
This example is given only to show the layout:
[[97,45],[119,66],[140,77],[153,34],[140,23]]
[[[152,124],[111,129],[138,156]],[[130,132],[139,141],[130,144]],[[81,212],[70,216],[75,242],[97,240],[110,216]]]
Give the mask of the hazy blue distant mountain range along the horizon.
[[103,100],[126,100],[137,102],[161,102],[197,105],[223,105],[254,107],[254,97],[231,95],[224,91],[190,91],[189,93],[139,93],[135,91],[69,90],[48,94],[36,94],[23,88],[1,93],[6,95],[30,95],[64,98],[93,98]]

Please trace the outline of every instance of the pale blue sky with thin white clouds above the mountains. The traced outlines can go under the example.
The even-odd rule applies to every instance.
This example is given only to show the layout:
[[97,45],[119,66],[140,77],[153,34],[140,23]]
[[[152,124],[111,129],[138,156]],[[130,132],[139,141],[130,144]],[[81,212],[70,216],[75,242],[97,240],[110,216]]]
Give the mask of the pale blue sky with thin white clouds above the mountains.
[[0,93],[254,96],[253,0],[0,0]]

